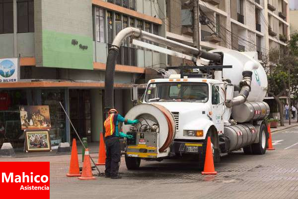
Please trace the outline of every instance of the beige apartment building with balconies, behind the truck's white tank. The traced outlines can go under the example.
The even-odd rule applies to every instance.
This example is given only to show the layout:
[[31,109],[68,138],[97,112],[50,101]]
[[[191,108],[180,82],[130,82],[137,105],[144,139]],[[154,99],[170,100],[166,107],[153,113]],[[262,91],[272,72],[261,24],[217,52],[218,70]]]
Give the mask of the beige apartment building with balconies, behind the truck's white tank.
[[[166,36],[192,45],[192,5],[185,5],[185,1],[167,0]],[[257,51],[261,59],[269,49],[286,45],[290,33],[288,0],[199,0],[199,6],[202,49]],[[169,57],[168,62],[180,65],[182,59]]]

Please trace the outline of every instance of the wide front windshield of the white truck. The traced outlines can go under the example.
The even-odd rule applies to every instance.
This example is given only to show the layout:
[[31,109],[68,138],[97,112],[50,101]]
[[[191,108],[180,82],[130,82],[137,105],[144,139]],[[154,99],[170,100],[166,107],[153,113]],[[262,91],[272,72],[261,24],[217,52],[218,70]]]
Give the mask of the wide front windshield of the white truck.
[[153,101],[208,101],[208,84],[198,82],[150,83],[146,102]]

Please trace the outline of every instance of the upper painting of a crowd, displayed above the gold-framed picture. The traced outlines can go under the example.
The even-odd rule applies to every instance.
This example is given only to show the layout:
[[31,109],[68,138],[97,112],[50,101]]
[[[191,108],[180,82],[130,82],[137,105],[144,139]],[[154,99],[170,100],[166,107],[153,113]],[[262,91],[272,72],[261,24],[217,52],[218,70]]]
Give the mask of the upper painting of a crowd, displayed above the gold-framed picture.
[[22,130],[37,130],[51,128],[48,105],[19,106]]

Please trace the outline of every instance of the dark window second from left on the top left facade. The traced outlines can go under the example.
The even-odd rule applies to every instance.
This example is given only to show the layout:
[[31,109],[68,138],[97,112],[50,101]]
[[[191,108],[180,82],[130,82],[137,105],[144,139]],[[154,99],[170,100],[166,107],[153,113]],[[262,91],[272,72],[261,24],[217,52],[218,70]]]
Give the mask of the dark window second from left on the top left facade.
[[17,0],[17,32],[34,32],[33,0]]

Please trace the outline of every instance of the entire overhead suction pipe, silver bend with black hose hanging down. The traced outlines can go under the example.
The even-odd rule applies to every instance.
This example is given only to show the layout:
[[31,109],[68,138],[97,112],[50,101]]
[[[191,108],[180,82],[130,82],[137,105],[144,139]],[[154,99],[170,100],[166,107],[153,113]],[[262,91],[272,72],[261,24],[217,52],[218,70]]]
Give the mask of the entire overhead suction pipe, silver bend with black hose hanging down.
[[195,57],[202,57],[204,59],[214,61],[215,63],[220,63],[222,61],[222,55],[218,53],[209,53],[206,51],[202,51],[200,49],[197,49],[170,39],[166,39],[164,37],[154,35],[149,32],[142,31],[138,28],[134,28],[134,27],[124,28],[116,35],[108,53],[106,72],[105,72],[105,111],[107,111],[110,108],[114,108],[113,91],[114,91],[114,75],[115,75],[116,58],[118,56],[122,41],[129,36],[154,41],[155,43],[165,45],[171,48],[179,49],[183,52],[192,54]]

